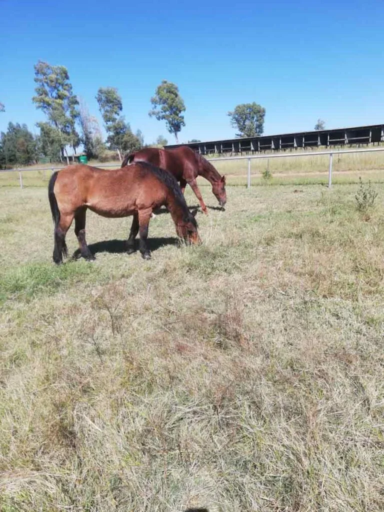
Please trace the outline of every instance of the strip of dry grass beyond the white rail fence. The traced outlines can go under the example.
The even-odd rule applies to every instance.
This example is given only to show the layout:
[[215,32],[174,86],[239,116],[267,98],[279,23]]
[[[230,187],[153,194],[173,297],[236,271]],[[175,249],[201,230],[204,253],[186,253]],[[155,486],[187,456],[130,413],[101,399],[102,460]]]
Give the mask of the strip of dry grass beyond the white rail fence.
[[[324,148],[321,148],[324,151]],[[292,153],[302,153],[298,149]],[[291,155],[287,151],[285,155]],[[317,150],[306,148],[308,157],[266,158],[254,159],[251,162],[253,185],[278,185],[278,184],[319,184],[328,183],[329,156],[315,156]],[[91,162],[92,165],[102,167],[106,164],[119,167],[118,162]],[[247,182],[247,160],[224,160],[213,162],[220,174],[225,174],[230,185],[245,185]],[[58,164],[57,164],[58,165]],[[31,166],[33,169],[36,166]],[[51,175],[52,164],[46,164],[45,170],[28,170],[23,173],[25,186],[42,186],[48,183]],[[263,173],[267,169],[271,178],[263,179]],[[364,176],[376,183],[384,182],[384,151],[377,153],[349,153],[346,155],[335,154],[333,158],[333,183],[357,183],[359,176]],[[209,186],[204,179],[199,179],[201,186]],[[1,186],[19,186],[17,173],[0,173]]]

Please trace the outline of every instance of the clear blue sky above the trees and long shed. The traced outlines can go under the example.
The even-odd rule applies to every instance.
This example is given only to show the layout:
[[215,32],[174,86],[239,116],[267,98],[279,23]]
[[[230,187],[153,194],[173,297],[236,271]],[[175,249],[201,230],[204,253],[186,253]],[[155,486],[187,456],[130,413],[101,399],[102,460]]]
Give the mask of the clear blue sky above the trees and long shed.
[[33,65],[68,68],[75,94],[99,116],[99,87],[117,87],[145,142],[165,124],[148,117],[162,79],[178,84],[180,141],[231,138],[238,103],[266,109],[264,133],[384,122],[384,3],[92,2],[0,0],[0,131],[44,120],[31,101]]

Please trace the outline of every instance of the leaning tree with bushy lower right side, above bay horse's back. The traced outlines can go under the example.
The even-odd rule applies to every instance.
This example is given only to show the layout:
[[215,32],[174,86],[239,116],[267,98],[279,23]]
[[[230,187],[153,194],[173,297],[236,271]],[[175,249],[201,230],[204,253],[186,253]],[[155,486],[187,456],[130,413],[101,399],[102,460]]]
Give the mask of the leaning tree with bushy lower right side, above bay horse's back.
[[117,151],[121,161],[122,153],[140,149],[142,133],[138,130],[135,135],[132,133],[130,124],[125,122],[121,115],[123,104],[116,88],[100,87],[96,100],[108,133],[106,142],[112,150]]

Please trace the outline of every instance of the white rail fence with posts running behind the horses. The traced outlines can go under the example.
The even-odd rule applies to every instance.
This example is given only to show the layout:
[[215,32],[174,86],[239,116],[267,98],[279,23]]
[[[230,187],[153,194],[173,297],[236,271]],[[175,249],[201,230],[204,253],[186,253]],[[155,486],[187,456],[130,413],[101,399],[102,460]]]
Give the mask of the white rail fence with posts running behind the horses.
[[[376,148],[366,148],[364,150],[345,150],[345,151],[313,151],[311,153],[289,153],[282,154],[279,153],[277,155],[265,154],[265,155],[252,155],[252,156],[239,156],[239,157],[224,157],[224,158],[209,158],[209,161],[224,161],[224,160],[247,160],[248,161],[248,169],[247,169],[247,188],[251,186],[251,160],[257,160],[260,158],[269,159],[269,158],[298,158],[298,157],[314,157],[314,156],[324,156],[329,155],[329,166],[328,166],[328,187],[332,186],[332,163],[333,163],[333,155],[346,155],[347,153],[376,153],[384,151],[384,147],[376,147]],[[120,167],[119,163],[116,164],[106,164],[100,165],[102,168],[107,167]],[[61,167],[35,167],[35,168],[25,168],[25,169],[0,169],[0,173],[18,173],[20,188],[23,188],[23,174],[36,170],[51,170],[52,173],[55,170],[60,170],[65,168],[65,166]]]

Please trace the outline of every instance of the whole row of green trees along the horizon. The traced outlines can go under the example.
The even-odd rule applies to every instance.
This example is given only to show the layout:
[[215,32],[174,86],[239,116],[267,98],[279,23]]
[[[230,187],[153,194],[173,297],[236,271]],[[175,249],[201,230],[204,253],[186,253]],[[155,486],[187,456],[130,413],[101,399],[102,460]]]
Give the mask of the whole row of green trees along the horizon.
[[[8,124],[7,132],[0,136],[0,166],[37,162],[42,156],[50,161],[70,162],[80,145],[88,158],[111,158],[108,151],[123,154],[139,150],[144,145],[140,130],[132,131],[122,115],[123,105],[118,90],[100,87],[95,96],[107,134],[103,140],[100,125],[91,115],[88,106],[73,92],[65,66],[51,66],[38,61],[34,66],[36,83],[33,103],[44,112],[46,121],[36,123],[39,134],[34,135],[26,124]],[[165,121],[167,131],[178,135],[185,126],[185,104],[175,83],[162,80],[151,98],[152,109],[148,114]],[[0,102],[0,112],[5,106]],[[238,131],[236,137],[254,137],[264,132],[265,109],[258,103],[243,103],[228,112],[231,125]],[[318,119],[315,130],[324,130],[324,121]],[[152,145],[164,146],[167,140],[159,136]],[[188,142],[200,142],[192,139]]]

